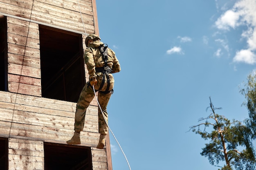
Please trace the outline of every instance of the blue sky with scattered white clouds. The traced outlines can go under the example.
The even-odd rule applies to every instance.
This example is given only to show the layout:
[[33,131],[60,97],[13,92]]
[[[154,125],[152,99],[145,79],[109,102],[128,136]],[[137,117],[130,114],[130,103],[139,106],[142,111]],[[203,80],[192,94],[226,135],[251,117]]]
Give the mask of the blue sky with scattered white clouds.
[[[256,0],[97,0],[102,42],[121,72],[109,126],[132,170],[217,170],[190,126],[209,97],[228,119],[248,117],[239,86],[256,68]],[[113,170],[129,170],[110,134]],[[219,166],[223,166],[220,163]]]

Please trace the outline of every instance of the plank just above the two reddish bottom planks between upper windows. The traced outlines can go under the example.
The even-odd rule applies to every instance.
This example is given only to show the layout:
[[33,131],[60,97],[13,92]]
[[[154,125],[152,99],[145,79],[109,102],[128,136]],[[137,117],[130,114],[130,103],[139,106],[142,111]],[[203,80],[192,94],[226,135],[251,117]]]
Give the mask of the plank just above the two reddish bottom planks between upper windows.
[[21,66],[18,64],[8,64],[8,73],[16,75],[25,75],[28,77],[41,78],[40,68]]

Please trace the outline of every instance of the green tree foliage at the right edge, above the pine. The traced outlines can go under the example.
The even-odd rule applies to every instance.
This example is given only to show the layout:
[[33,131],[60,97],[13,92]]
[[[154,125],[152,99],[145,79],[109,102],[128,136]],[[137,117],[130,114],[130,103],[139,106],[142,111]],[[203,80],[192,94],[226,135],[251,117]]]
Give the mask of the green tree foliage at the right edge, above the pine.
[[256,71],[250,73],[247,77],[245,87],[240,90],[245,96],[249,112],[249,119],[246,120],[248,128],[252,131],[252,138],[256,139]]

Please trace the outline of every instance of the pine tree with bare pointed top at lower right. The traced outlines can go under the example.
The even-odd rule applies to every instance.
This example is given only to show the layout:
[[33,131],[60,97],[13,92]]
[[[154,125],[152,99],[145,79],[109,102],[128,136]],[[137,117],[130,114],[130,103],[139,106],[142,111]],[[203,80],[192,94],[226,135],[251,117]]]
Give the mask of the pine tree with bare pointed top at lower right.
[[219,170],[254,170],[256,160],[249,128],[240,121],[230,121],[216,114],[215,111],[221,108],[214,108],[211,98],[208,108],[212,113],[199,119],[202,123],[190,127],[190,130],[209,141],[202,148],[201,155],[208,157],[214,166],[225,162],[225,166]]

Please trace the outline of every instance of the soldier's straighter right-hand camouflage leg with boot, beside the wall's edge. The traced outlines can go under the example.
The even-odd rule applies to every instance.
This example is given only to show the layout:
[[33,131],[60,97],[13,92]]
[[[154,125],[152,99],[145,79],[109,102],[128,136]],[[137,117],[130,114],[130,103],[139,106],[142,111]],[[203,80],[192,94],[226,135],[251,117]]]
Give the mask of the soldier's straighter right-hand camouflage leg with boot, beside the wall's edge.
[[[105,146],[105,137],[108,134],[108,113],[107,113],[107,106],[108,106],[108,102],[109,99],[111,97],[111,94],[103,94],[101,92],[98,93],[98,101],[99,104],[101,106],[101,110],[103,111],[103,114],[101,113],[100,108],[98,108],[98,116],[99,116],[99,133],[100,135],[100,139],[99,139],[99,144],[97,146],[97,148],[99,149],[103,149],[103,147]],[[104,119],[104,117],[106,119]]]

